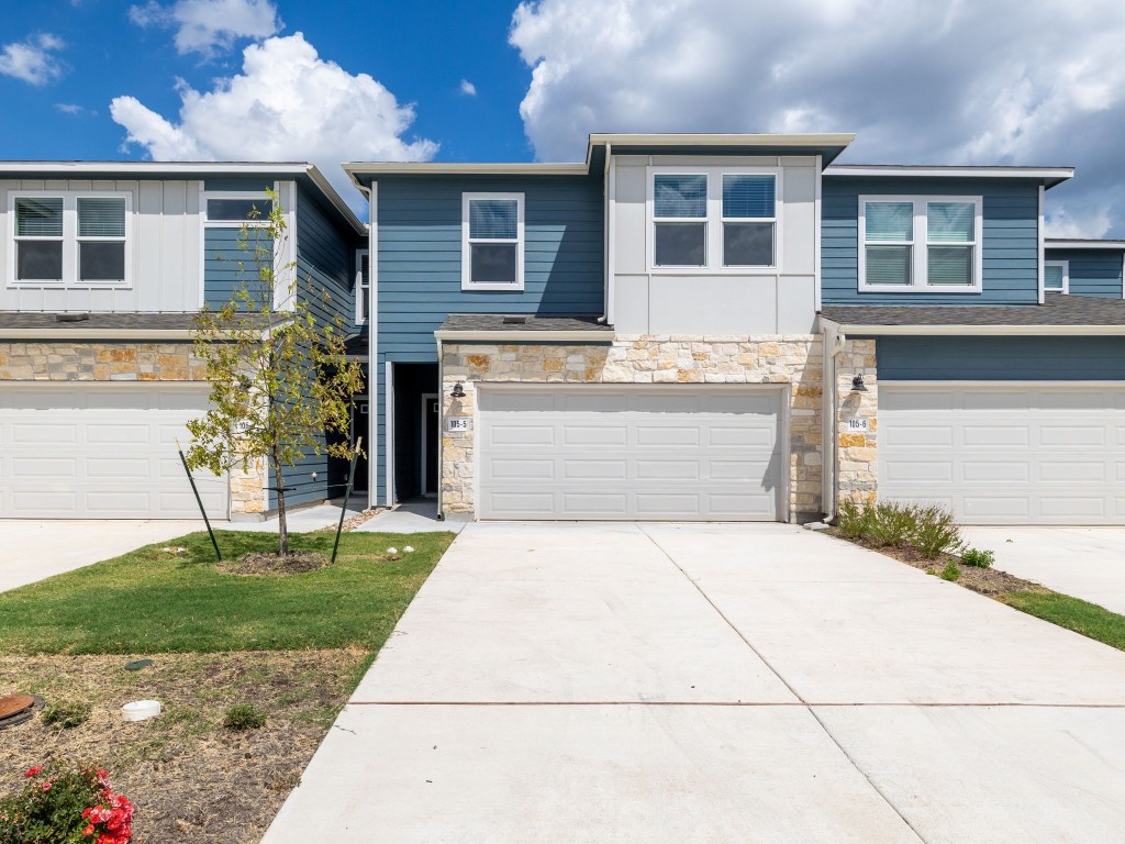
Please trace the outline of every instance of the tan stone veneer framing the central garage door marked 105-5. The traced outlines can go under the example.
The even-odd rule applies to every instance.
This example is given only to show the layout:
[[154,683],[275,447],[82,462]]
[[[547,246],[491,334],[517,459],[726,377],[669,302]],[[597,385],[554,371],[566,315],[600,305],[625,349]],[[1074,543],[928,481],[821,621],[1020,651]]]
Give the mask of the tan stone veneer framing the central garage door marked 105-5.
[[[790,384],[790,513],[820,515],[824,358],[819,334],[759,336],[618,335],[612,344],[447,342],[444,415],[474,415],[477,383]],[[452,398],[453,384],[465,397]],[[474,508],[475,431],[442,433],[442,506]]]

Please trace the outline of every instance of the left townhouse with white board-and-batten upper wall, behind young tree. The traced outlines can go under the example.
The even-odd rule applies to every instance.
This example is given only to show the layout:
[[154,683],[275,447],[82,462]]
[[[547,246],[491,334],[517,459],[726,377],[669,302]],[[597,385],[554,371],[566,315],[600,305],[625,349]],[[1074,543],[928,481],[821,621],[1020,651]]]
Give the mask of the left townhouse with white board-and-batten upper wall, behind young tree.
[[[254,273],[237,239],[267,189],[287,215],[278,266],[313,281],[321,318],[339,311],[362,335],[366,227],[309,164],[0,163],[0,517],[198,514],[176,452],[207,407],[192,317]],[[309,455],[289,501],[339,494],[342,475]],[[212,518],[273,506],[262,466],[199,479]]]

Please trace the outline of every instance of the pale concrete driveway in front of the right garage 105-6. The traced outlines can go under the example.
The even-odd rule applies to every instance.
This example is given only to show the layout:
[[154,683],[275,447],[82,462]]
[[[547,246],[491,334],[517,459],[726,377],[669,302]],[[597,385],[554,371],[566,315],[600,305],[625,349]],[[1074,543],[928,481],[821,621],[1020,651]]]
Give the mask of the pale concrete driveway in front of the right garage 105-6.
[[1125,614],[1125,528],[962,528],[996,567]]

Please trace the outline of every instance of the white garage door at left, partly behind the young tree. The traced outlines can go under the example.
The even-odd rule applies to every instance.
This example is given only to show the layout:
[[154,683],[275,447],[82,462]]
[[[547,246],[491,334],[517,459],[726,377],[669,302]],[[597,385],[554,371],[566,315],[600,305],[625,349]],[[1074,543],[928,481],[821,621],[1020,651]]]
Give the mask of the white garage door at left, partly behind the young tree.
[[[176,451],[207,407],[199,386],[100,384],[0,387],[0,517],[182,519],[199,509]],[[225,478],[196,473],[214,518]]]

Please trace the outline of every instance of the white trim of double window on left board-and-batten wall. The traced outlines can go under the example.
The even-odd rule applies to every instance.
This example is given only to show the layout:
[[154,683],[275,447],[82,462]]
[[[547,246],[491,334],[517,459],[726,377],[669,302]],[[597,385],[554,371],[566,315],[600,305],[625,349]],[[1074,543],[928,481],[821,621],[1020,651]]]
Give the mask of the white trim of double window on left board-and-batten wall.
[[[63,200],[63,272],[61,279],[18,279],[16,278],[16,244],[21,237],[16,235],[16,200],[35,198],[58,198]],[[124,237],[79,237],[78,236],[78,200],[79,199],[124,199],[125,200],[125,236]],[[9,190],[6,204],[8,212],[8,231],[4,233],[8,248],[6,271],[9,289],[38,290],[132,290],[133,289],[133,249],[134,215],[133,192],[128,190]],[[30,237],[28,240],[56,241],[56,237]],[[125,249],[125,278],[119,280],[89,280],[79,278],[79,250],[81,243],[123,243]]]

